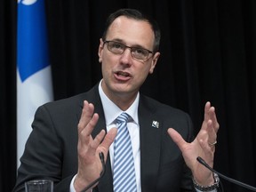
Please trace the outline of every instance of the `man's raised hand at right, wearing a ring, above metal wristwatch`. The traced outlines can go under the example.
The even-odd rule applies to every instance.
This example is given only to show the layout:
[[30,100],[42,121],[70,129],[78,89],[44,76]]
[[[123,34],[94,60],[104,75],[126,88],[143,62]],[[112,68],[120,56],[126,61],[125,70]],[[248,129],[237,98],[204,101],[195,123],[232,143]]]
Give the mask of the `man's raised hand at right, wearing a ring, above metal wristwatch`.
[[215,108],[211,107],[210,102],[207,102],[204,108],[204,122],[193,142],[186,142],[182,139],[179,132],[172,128],[168,129],[169,135],[180,148],[186,164],[192,171],[194,179],[203,186],[211,185],[214,180],[212,172],[207,170],[204,165],[199,164],[196,157],[201,156],[207,164],[213,167],[215,144],[219,128],[220,125],[216,118]]

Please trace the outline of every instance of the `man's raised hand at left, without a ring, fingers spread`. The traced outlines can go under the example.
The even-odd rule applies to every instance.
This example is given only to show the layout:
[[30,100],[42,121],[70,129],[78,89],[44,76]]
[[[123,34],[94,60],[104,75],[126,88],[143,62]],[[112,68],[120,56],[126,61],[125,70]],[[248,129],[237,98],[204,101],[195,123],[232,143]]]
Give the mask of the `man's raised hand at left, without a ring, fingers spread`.
[[91,133],[98,119],[99,115],[94,113],[92,103],[84,100],[84,108],[78,124],[78,171],[74,182],[76,191],[83,190],[93,180],[100,177],[102,164],[99,154],[100,152],[104,154],[106,162],[108,149],[116,137],[117,129],[113,128],[107,134],[101,130],[93,139]]

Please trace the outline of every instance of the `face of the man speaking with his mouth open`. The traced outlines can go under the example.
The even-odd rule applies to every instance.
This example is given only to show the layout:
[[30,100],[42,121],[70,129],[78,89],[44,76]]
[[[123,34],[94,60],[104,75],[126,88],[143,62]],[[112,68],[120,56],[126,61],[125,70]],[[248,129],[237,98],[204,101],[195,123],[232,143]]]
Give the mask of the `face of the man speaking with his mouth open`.
[[[121,16],[109,26],[106,40],[153,51],[155,36],[148,22]],[[108,44],[104,44],[102,39],[98,54],[102,63],[102,88],[109,98],[113,94],[135,95],[148,73],[153,73],[160,55],[156,52],[152,57],[150,53],[148,60],[137,60],[132,58],[129,48],[122,54],[115,54],[108,51]]]

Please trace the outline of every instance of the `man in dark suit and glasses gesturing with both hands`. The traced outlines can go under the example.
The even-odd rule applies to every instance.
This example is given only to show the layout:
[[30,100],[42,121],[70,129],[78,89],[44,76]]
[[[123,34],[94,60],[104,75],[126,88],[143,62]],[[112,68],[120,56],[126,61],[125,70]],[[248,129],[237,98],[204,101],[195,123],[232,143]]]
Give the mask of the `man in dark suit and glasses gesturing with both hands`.
[[100,152],[106,173],[90,190],[113,191],[116,117],[123,112],[130,118],[135,187],[120,191],[218,190],[216,176],[196,161],[201,156],[213,166],[219,124],[210,102],[194,140],[186,113],[139,92],[154,72],[159,42],[156,22],[136,10],[108,17],[98,52],[102,80],[89,92],[37,109],[14,191],[36,179],[53,180],[54,191],[83,191],[100,177]]

